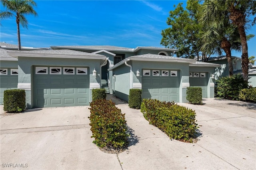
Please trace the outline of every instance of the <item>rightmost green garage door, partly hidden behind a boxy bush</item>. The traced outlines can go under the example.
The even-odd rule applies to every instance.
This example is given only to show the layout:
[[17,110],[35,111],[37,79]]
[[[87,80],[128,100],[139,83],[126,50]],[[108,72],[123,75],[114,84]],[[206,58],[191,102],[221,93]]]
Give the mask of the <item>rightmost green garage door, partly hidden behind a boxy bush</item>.
[[189,83],[190,87],[201,87],[202,88],[202,98],[207,98],[207,73],[193,72],[189,73]]

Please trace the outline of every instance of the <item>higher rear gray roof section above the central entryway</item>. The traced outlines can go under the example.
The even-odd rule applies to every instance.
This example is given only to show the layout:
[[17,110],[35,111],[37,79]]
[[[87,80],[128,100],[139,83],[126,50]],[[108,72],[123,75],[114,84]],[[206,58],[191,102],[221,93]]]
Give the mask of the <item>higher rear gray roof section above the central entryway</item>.
[[127,47],[118,47],[118,46],[111,46],[111,45],[67,45],[67,46],[51,46],[52,49],[59,49],[59,48],[69,48],[69,49],[105,49],[105,50],[118,50],[118,51],[132,51],[133,48]]

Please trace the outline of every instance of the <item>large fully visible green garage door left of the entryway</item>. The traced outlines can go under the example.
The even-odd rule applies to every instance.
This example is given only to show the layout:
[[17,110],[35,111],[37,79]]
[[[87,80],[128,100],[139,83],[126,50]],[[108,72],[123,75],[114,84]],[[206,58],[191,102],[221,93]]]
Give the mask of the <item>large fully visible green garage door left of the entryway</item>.
[[89,105],[89,68],[34,67],[33,107]]

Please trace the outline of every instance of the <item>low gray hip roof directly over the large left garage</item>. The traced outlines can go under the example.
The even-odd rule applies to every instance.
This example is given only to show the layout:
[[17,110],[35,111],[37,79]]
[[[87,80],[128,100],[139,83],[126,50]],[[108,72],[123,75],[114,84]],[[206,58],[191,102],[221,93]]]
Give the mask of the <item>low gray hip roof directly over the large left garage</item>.
[[71,49],[54,49],[54,50],[32,50],[32,51],[8,51],[13,57],[56,57],[56,58],[84,58],[84,59],[105,59],[105,55],[86,53]]

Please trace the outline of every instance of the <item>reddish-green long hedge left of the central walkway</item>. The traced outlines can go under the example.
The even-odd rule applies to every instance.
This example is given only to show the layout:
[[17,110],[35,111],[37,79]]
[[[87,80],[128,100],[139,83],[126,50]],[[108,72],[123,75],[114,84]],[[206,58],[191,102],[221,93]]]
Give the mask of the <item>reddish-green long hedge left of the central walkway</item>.
[[93,143],[98,147],[122,148],[128,144],[127,127],[124,118],[112,101],[96,100],[90,103],[90,117]]

